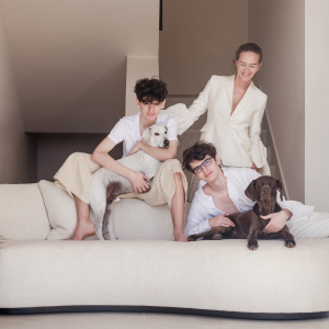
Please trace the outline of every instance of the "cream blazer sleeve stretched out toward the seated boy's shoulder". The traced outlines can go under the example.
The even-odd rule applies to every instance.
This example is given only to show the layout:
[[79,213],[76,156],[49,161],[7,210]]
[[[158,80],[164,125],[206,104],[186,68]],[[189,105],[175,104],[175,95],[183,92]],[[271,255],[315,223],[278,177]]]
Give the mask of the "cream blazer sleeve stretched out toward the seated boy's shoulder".
[[166,110],[163,113],[174,116],[178,121],[178,134],[182,135],[192,124],[198,120],[200,115],[204,114],[208,109],[209,91],[212,89],[213,78],[207,82],[198,98],[193,101],[188,109],[185,104],[175,104]]

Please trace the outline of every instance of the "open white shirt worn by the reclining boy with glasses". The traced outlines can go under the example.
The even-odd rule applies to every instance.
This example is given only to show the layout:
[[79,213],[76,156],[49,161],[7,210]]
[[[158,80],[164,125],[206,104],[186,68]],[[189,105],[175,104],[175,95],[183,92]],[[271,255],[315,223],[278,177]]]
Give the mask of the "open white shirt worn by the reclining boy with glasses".
[[[246,196],[245,191],[252,180],[256,180],[260,174],[250,168],[222,168],[224,175],[227,178],[228,195],[239,213],[245,213],[252,209],[256,204]],[[188,224],[184,228],[185,236],[202,234],[211,229],[208,219],[223,215],[222,209],[217,209],[212,195],[206,195],[203,192],[203,186],[206,182],[201,181],[188,216]],[[288,209],[293,216],[287,222],[290,228],[296,222],[306,220],[307,215],[314,211],[314,206],[306,206],[300,202],[280,200],[277,192],[276,202],[282,208]]]

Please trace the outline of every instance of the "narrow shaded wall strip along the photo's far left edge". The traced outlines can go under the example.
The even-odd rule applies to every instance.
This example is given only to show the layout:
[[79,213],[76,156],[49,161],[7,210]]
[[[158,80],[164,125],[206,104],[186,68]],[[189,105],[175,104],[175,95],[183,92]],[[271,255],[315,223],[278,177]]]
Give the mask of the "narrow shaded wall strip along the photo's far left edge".
[[0,1],[0,183],[36,179],[36,144],[24,134]]

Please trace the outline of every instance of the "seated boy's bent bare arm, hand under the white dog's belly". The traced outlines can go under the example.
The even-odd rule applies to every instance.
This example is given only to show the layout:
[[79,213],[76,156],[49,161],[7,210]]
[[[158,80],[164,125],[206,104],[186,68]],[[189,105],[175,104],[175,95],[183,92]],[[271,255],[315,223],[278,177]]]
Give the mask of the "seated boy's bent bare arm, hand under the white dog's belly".
[[93,154],[91,155],[91,160],[128,179],[133,184],[136,193],[147,191],[149,186],[146,183],[146,180],[149,180],[141,172],[137,172],[126,168],[125,166],[115,161],[109,155],[109,152],[114,148],[114,146],[115,143],[110,137],[105,137],[94,149]]

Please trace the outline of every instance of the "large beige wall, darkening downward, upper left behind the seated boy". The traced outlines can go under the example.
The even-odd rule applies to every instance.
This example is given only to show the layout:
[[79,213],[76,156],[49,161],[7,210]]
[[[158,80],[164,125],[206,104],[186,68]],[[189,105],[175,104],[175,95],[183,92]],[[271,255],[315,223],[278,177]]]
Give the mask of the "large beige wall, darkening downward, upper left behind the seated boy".
[[157,0],[2,0],[25,132],[109,133],[126,57],[158,57]]

